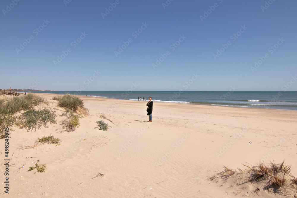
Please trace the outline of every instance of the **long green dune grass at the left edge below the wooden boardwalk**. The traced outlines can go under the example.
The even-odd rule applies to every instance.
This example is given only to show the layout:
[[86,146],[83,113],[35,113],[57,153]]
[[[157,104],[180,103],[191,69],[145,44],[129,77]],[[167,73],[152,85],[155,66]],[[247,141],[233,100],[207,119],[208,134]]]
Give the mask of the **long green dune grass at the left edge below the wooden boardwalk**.
[[15,113],[30,110],[42,102],[44,98],[31,93],[26,96],[15,96],[12,99],[0,99],[0,138],[4,137],[4,128],[16,122]]

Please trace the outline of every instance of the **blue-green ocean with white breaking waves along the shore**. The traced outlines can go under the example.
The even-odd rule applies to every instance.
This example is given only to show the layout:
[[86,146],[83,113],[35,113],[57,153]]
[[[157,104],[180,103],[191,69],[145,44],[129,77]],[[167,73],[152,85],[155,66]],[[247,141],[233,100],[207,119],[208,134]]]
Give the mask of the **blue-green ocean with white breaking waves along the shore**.
[[[245,108],[297,110],[297,91],[32,91],[35,93],[87,95],[138,101],[204,104]],[[143,100],[141,100],[143,101]]]

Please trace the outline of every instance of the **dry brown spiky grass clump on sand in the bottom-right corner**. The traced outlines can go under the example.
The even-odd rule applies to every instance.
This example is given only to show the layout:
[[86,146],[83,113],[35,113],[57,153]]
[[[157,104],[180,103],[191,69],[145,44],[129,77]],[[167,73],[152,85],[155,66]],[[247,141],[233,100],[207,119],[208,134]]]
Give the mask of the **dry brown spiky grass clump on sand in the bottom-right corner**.
[[260,162],[257,166],[244,166],[247,169],[238,169],[238,171],[230,170],[224,166],[225,170],[210,177],[210,180],[216,180],[217,182],[222,180],[225,183],[229,178],[233,178],[232,181],[237,186],[251,183],[256,188],[253,191],[256,194],[258,194],[260,189],[284,196],[293,196],[297,193],[297,178],[290,174],[292,166],[285,165],[284,161],[280,164],[275,164],[273,161],[270,164]]

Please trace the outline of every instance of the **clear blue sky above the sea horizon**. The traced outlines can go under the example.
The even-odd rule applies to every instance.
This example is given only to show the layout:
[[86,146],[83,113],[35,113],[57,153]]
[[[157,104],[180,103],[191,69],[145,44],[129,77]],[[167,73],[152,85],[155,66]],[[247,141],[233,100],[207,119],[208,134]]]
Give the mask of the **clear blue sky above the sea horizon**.
[[297,91],[296,0],[2,0],[0,9],[1,88]]

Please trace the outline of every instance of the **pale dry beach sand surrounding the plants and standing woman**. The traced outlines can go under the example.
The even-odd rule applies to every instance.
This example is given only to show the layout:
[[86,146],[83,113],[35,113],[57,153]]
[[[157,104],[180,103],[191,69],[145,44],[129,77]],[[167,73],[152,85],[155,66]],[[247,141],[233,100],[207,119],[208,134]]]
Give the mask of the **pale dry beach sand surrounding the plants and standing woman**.
[[[35,93],[36,94],[36,93]],[[48,99],[63,113],[55,94]],[[9,194],[4,193],[4,140],[1,151],[1,196],[5,197],[282,197],[253,193],[249,183],[232,186],[210,181],[215,171],[243,169],[259,161],[293,165],[297,176],[297,112],[154,102],[148,123],[146,102],[79,96],[90,116],[74,132],[61,132],[61,120],[27,132],[12,127],[9,139]],[[113,123],[95,129],[104,113]],[[53,135],[61,145],[34,144]],[[252,142],[252,143],[249,143]],[[13,154],[13,156],[12,156]],[[45,172],[28,172],[40,160]],[[97,174],[104,174],[103,177]],[[237,195],[236,195],[237,194]],[[291,196],[292,197],[292,196]]]

